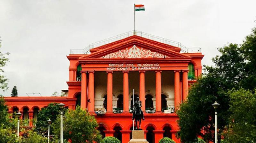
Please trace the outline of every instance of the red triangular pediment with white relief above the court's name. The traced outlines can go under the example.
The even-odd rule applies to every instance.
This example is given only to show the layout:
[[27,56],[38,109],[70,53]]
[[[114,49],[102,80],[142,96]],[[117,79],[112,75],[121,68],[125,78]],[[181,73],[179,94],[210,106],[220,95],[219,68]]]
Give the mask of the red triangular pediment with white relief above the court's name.
[[[172,48],[172,47],[171,47]],[[80,57],[84,58],[190,58],[177,52],[178,47],[166,48],[153,40],[143,40],[133,36],[93,49],[93,53]],[[176,51],[175,51],[176,50]]]

